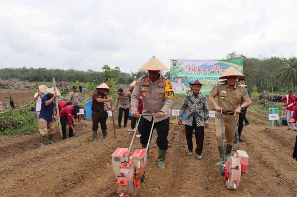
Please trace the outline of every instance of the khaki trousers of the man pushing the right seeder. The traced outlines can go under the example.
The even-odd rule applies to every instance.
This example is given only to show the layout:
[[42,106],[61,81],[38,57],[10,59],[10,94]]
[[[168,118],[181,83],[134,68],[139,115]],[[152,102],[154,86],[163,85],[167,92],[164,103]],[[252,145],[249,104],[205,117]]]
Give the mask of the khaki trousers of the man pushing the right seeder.
[[[216,112],[216,135],[217,135],[217,146],[222,146],[222,127],[221,127],[221,115],[220,113]],[[234,122],[234,114],[222,114],[223,118],[223,132],[224,132],[224,139],[228,145],[232,146],[234,141],[234,135],[236,133],[235,127],[237,126],[239,115],[236,114],[236,125]]]

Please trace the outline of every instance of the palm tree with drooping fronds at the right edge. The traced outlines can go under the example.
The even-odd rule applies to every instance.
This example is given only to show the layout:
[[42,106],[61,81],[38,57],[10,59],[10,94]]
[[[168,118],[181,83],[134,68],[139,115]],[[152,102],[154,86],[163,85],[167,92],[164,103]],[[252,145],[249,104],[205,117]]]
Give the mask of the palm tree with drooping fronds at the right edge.
[[285,59],[287,67],[285,67],[278,75],[277,78],[282,77],[282,83],[293,83],[293,88],[296,90],[297,85],[297,58],[290,57]]

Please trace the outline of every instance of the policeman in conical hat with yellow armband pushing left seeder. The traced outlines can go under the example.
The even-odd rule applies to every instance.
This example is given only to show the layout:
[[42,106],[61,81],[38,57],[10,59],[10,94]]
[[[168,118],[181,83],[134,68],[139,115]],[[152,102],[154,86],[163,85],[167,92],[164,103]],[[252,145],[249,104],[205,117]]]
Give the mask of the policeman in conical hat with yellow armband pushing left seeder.
[[[168,70],[155,56],[147,61],[139,70],[148,70],[149,75],[140,77],[134,87],[131,99],[132,116],[139,117],[137,111],[139,96],[142,94],[143,114],[155,114],[154,128],[157,130],[157,146],[159,147],[158,167],[165,168],[165,156],[168,149],[169,108],[173,103],[173,88],[170,81],[160,75],[160,70]],[[146,148],[152,117],[144,116],[140,143]]]

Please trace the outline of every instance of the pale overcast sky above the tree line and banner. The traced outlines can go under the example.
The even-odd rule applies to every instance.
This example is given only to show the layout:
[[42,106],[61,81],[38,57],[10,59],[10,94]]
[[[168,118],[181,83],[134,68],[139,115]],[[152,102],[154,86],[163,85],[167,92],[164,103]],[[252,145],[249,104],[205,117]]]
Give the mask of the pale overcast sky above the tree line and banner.
[[297,1],[0,1],[0,68],[297,56]]

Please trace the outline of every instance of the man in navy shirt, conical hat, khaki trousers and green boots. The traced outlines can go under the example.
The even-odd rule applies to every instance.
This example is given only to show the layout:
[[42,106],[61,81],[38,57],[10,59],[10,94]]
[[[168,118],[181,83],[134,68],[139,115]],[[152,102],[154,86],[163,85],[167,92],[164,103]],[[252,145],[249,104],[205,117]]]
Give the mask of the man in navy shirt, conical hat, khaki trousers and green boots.
[[55,117],[55,98],[61,96],[58,88],[56,88],[56,93],[54,93],[54,88],[49,88],[45,90],[48,94],[42,97],[41,109],[38,119],[39,124],[39,146],[44,147],[44,136],[48,134],[48,143],[53,144],[53,135],[55,134],[54,122],[56,122]]

